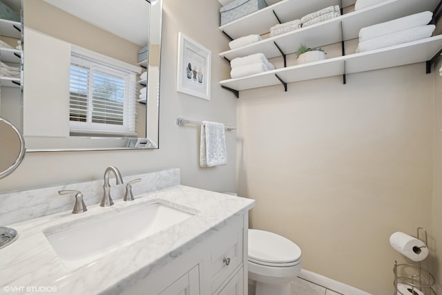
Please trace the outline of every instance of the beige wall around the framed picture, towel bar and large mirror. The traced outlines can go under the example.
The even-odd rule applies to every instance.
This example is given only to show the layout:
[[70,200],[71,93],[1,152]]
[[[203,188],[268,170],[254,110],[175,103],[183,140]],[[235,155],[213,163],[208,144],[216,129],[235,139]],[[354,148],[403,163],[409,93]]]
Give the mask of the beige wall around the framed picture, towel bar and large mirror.
[[[182,184],[234,191],[236,133],[227,133],[229,164],[202,169],[199,126],[176,125],[177,117],[236,125],[236,99],[218,84],[220,76],[229,70],[229,65],[217,57],[219,48],[226,42],[218,30],[219,7],[218,1],[164,1],[159,150],[28,153],[15,173],[0,180],[0,191],[99,180],[110,165],[117,166],[123,175],[178,167]],[[189,19],[189,15],[195,17]],[[213,53],[210,101],[176,91],[178,32],[184,32]]]

